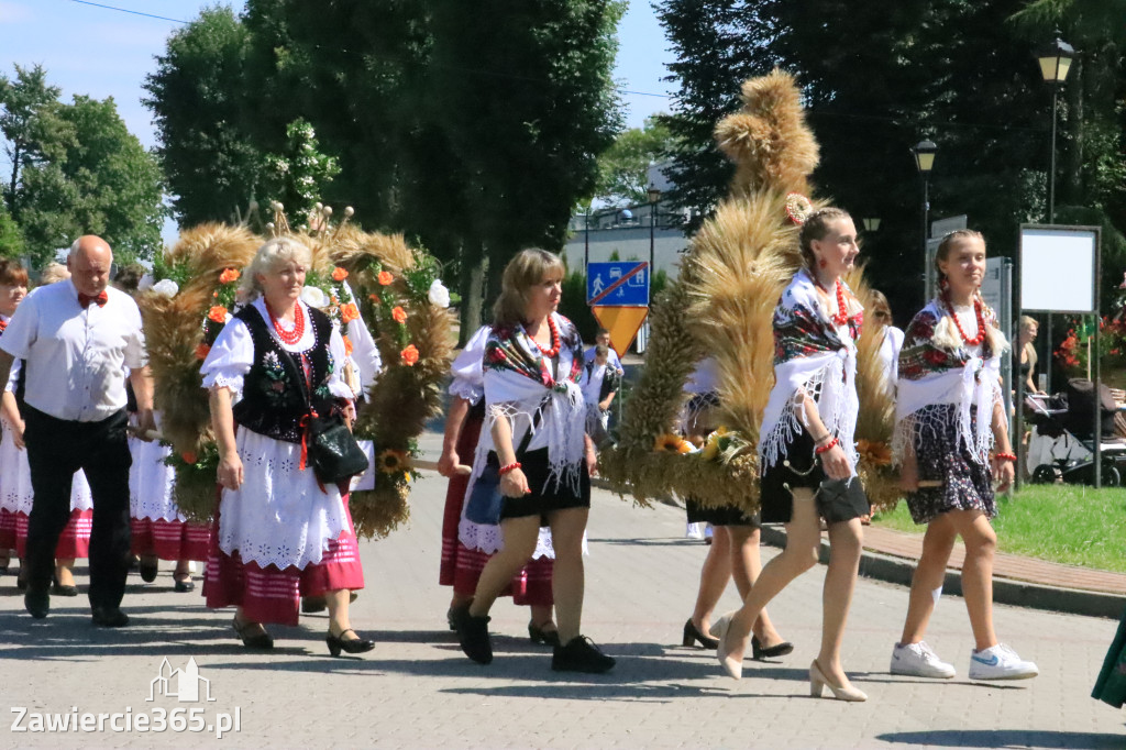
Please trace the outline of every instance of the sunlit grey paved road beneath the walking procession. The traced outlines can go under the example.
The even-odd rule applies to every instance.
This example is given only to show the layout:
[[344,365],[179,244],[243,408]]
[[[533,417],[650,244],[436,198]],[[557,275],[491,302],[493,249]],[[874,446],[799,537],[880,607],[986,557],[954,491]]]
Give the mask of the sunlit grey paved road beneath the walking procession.
[[[154,584],[131,579],[134,626],[93,630],[81,600],[55,599],[46,620],[23,613],[14,577],[0,579],[0,702],[34,712],[125,712],[204,707],[241,716],[232,748],[1123,748],[1121,712],[1088,695],[1116,627],[1111,619],[999,606],[1001,637],[1042,670],[1036,680],[972,684],[965,608],[946,596],[928,641],[959,676],[935,682],[887,675],[906,608],[902,587],[861,580],[844,644],[846,664],[870,699],[808,698],[806,671],[820,631],[819,566],[772,604],[796,651],[748,662],[740,681],[720,677],[714,655],[679,646],[707,548],[683,538],[679,509],[632,508],[595,492],[584,631],[619,659],[606,676],[557,676],[526,637],[527,611],[502,600],[493,611],[497,660],[461,655],[446,630],[448,589],[436,584],[445,482],[432,473],[412,495],[412,520],[390,538],[361,544],[368,588],[354,624],[374,652],[331,659],[323,615],[272,628],[278,649],[244,651],[231,613],[176,595],[166,566]],[[775,554],[765,548],[763,554]],[[79,575],[84,587],[84,575]],[[733,588],[723,606],[735,606]],[[213,703],[148,702],[163,658],[188,658],[209,680]],[[158,682],[159,685],[159,682]],[[200,734],[12,733],[0,747],[199,747]],[[206,723],[205,722],[205,723]]]

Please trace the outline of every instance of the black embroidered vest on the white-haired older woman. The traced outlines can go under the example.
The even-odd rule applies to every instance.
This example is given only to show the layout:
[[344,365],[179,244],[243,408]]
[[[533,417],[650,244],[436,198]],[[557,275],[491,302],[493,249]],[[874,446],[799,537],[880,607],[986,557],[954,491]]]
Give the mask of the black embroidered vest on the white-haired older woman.
[[243,378],[242,400],[233,410],[240,427],[275,440],[301,443],[301,420],[307,413],[302,357],[311,369],[313,408],[322,417],[331,412],[334,403],[328,382],[336,368],[329,351],[332,322],[320,310],[309,307],[309,312],[313,346],[300,354],[282,348],[253,305],[245,305],[234,314],[247,324],[254,342],[254,364]]

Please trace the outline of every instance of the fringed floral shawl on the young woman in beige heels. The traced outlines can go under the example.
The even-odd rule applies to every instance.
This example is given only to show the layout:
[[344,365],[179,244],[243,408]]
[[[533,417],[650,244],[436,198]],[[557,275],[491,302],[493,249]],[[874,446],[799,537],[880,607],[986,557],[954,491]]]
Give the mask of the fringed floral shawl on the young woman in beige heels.
[[805,269],[794,276],[775,307],[775,386],[759,431],[763,471],[784,458],[786,446],[805,429],[799,407],[805,396],[814,399],[822,422],[840,439],[856,471],[852,434],[860,409],[856,394],[856,340],[864,324],[864,309],[851,289],[846,286],[844,292],[849,318],[841,327],[830,319],[829,296]]

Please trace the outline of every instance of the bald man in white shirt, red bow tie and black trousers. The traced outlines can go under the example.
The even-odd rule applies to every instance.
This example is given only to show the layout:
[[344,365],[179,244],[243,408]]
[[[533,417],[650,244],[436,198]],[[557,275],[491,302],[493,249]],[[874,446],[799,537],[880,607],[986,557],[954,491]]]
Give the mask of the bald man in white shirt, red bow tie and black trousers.
[[0,339],[0,383],[16,359],[26,376],[26,428],[14,436],[26,446],[35,494],[24,606],[36,618],[50,611],[55,545],[81,468],[93,495],[90,608],[93,624],[104,627],[128,624],[120,610],[129,566],[126,367],[141,435],[153,426],[141,311],[127,294],[107,288],[113,260],[105,240],[79,238],[66,259],[71,279],[34,289]]

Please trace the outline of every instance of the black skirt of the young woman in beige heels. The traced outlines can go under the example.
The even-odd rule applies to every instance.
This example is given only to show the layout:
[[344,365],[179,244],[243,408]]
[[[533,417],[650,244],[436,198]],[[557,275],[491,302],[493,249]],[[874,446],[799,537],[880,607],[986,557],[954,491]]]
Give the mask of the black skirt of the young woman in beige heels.
[[785,458],[767,467],[759,480],[763,524],[788,524],[794,516],[796,489],[814,492],[817,515],[829,524],[866,516],[872,507],[859,477],[830,480],[814,453],[813,438],[802,430],[786,444]]

